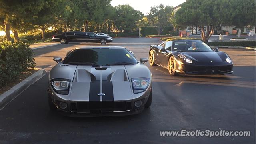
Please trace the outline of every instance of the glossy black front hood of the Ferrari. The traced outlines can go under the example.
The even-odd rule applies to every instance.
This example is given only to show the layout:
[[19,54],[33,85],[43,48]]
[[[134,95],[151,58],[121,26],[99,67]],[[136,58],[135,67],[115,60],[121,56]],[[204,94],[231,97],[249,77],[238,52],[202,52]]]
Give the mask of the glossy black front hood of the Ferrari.
[[226,61],[224,52],[180,52],[200,64],[222,64]]

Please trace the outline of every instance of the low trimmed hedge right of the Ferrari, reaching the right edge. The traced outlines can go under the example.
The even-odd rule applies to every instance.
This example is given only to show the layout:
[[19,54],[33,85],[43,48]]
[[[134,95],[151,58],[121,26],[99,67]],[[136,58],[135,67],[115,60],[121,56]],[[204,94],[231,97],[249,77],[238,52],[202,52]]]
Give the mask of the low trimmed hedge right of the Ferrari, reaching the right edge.
[[255,40],[244,40],[244,41],[214,41],[208,42],[208,46],[255,46]]

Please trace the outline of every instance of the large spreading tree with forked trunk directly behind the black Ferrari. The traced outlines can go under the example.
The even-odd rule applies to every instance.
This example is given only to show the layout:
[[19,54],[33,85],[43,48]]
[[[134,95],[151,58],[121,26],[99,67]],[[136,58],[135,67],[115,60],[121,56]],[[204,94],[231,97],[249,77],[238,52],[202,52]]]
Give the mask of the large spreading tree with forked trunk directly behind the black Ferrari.
[[[221,1],[221,0],[220,0]],[[173,23],[176,27],[199,26],[202,41],[207,43],[214,33],[222,11],[218,0],[187,0],[175,13]]]

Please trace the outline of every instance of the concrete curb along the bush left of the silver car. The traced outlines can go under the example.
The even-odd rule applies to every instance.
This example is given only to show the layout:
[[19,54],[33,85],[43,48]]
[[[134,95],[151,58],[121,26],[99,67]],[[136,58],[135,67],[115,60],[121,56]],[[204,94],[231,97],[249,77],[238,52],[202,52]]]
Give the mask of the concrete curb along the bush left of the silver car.
[[16,84],[14,87],[12,87],[10,90],[4,92],[0,95],[0,110],[4,108],[9,102],[11,102],[14,98],[19,96],[21,92],[26,90],[31,84],[42,78],[46,74],[46,71],[43,69],[38,70],[38,72],[35,72],[25,80],[22,80],[22,82]]

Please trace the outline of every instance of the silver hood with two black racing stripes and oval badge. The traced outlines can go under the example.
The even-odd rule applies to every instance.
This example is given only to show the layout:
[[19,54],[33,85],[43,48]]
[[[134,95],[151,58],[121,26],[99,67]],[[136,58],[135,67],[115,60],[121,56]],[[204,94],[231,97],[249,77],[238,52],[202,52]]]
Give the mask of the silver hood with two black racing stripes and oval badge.
[[124,65],[77,66],[70,89],[74,101],[132,100],[132,87]]

